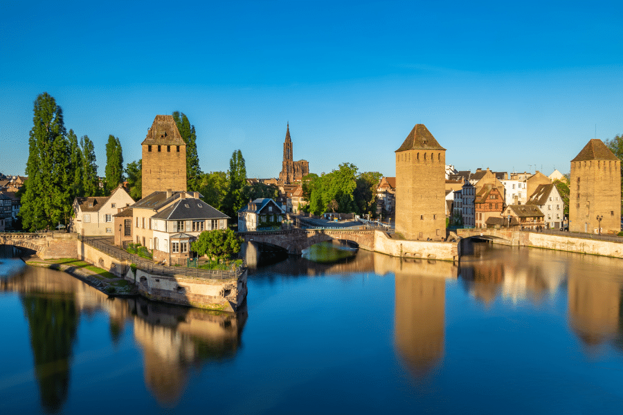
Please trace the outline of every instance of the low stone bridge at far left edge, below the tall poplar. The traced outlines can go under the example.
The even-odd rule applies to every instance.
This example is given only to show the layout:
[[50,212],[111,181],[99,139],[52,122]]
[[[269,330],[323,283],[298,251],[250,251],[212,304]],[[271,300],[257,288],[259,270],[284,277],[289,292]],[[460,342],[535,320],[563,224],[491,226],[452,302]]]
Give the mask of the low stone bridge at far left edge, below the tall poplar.
[[26,248],[42,259],[75,258],[78,254],[78,235],[64,232],[2,232],[0,245]]

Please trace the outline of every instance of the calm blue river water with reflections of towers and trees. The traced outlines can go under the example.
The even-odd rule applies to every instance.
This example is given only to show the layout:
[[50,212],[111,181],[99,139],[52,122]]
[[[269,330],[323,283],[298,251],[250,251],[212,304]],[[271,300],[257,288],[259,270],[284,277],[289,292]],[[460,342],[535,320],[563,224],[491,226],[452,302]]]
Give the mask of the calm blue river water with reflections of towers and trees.
[[622,260],[320,246],[252,270],[237,315],[1,261],[2,414],[623,412]]

